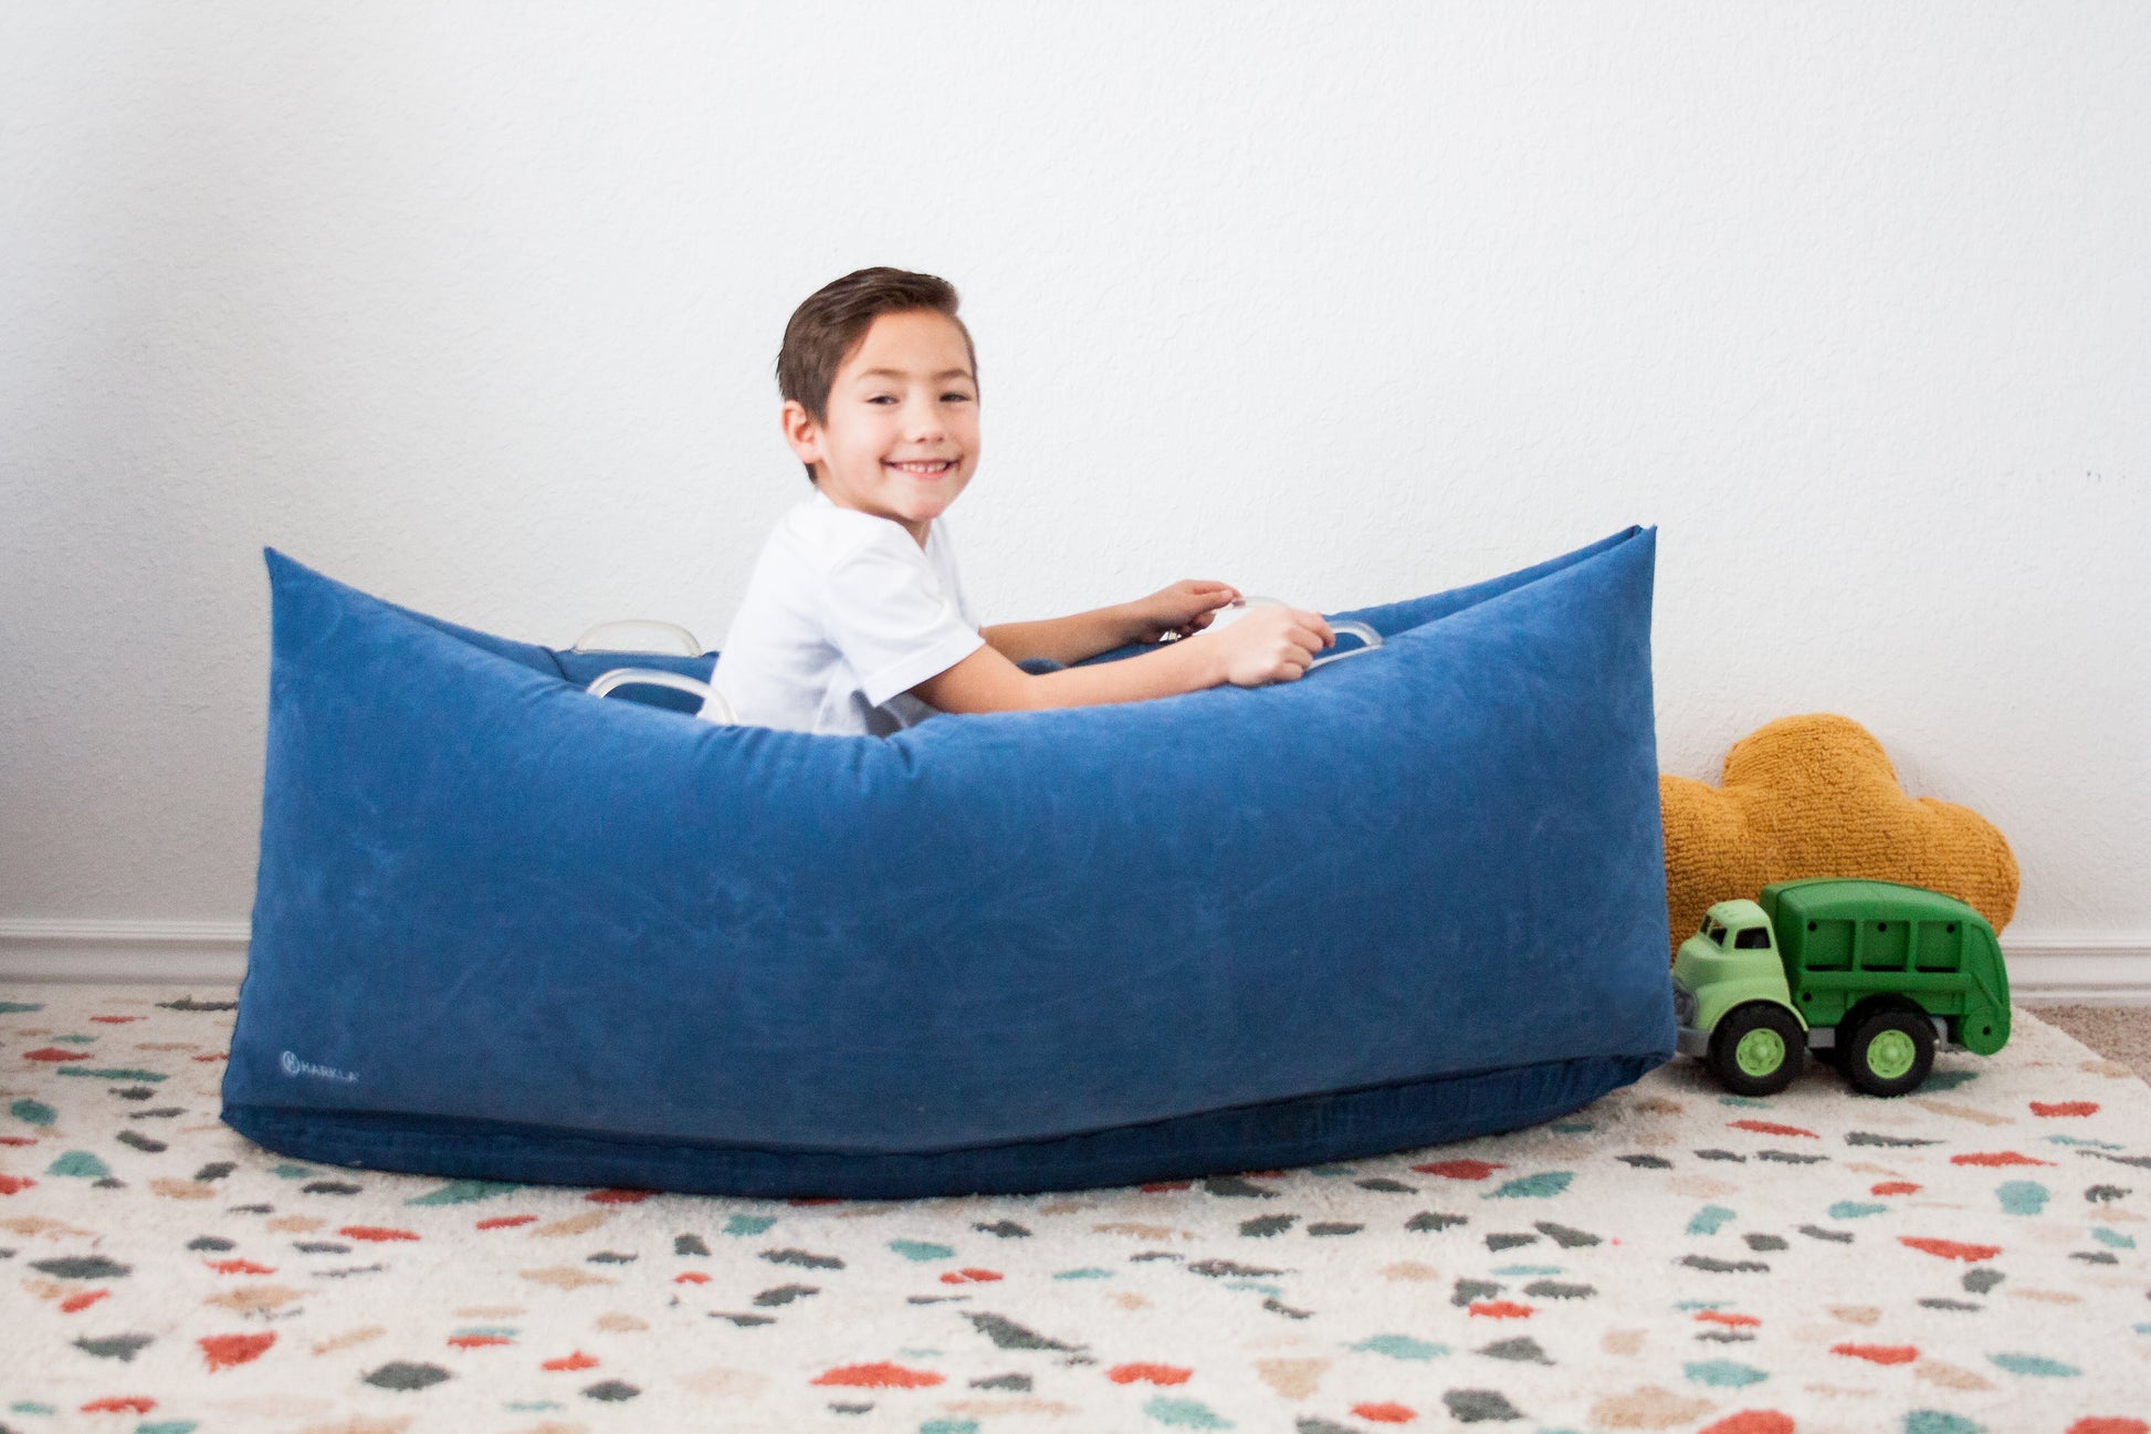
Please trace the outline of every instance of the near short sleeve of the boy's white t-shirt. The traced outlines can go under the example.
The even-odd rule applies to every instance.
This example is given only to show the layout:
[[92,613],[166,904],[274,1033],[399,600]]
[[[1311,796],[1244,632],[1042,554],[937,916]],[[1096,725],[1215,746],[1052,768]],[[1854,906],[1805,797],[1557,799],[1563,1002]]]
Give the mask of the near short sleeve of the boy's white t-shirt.
[[873,706],[985,646],[910,534],[895,523],[878,528],[886,532],[850,547],[830,566],[824,592],[828,639]]

